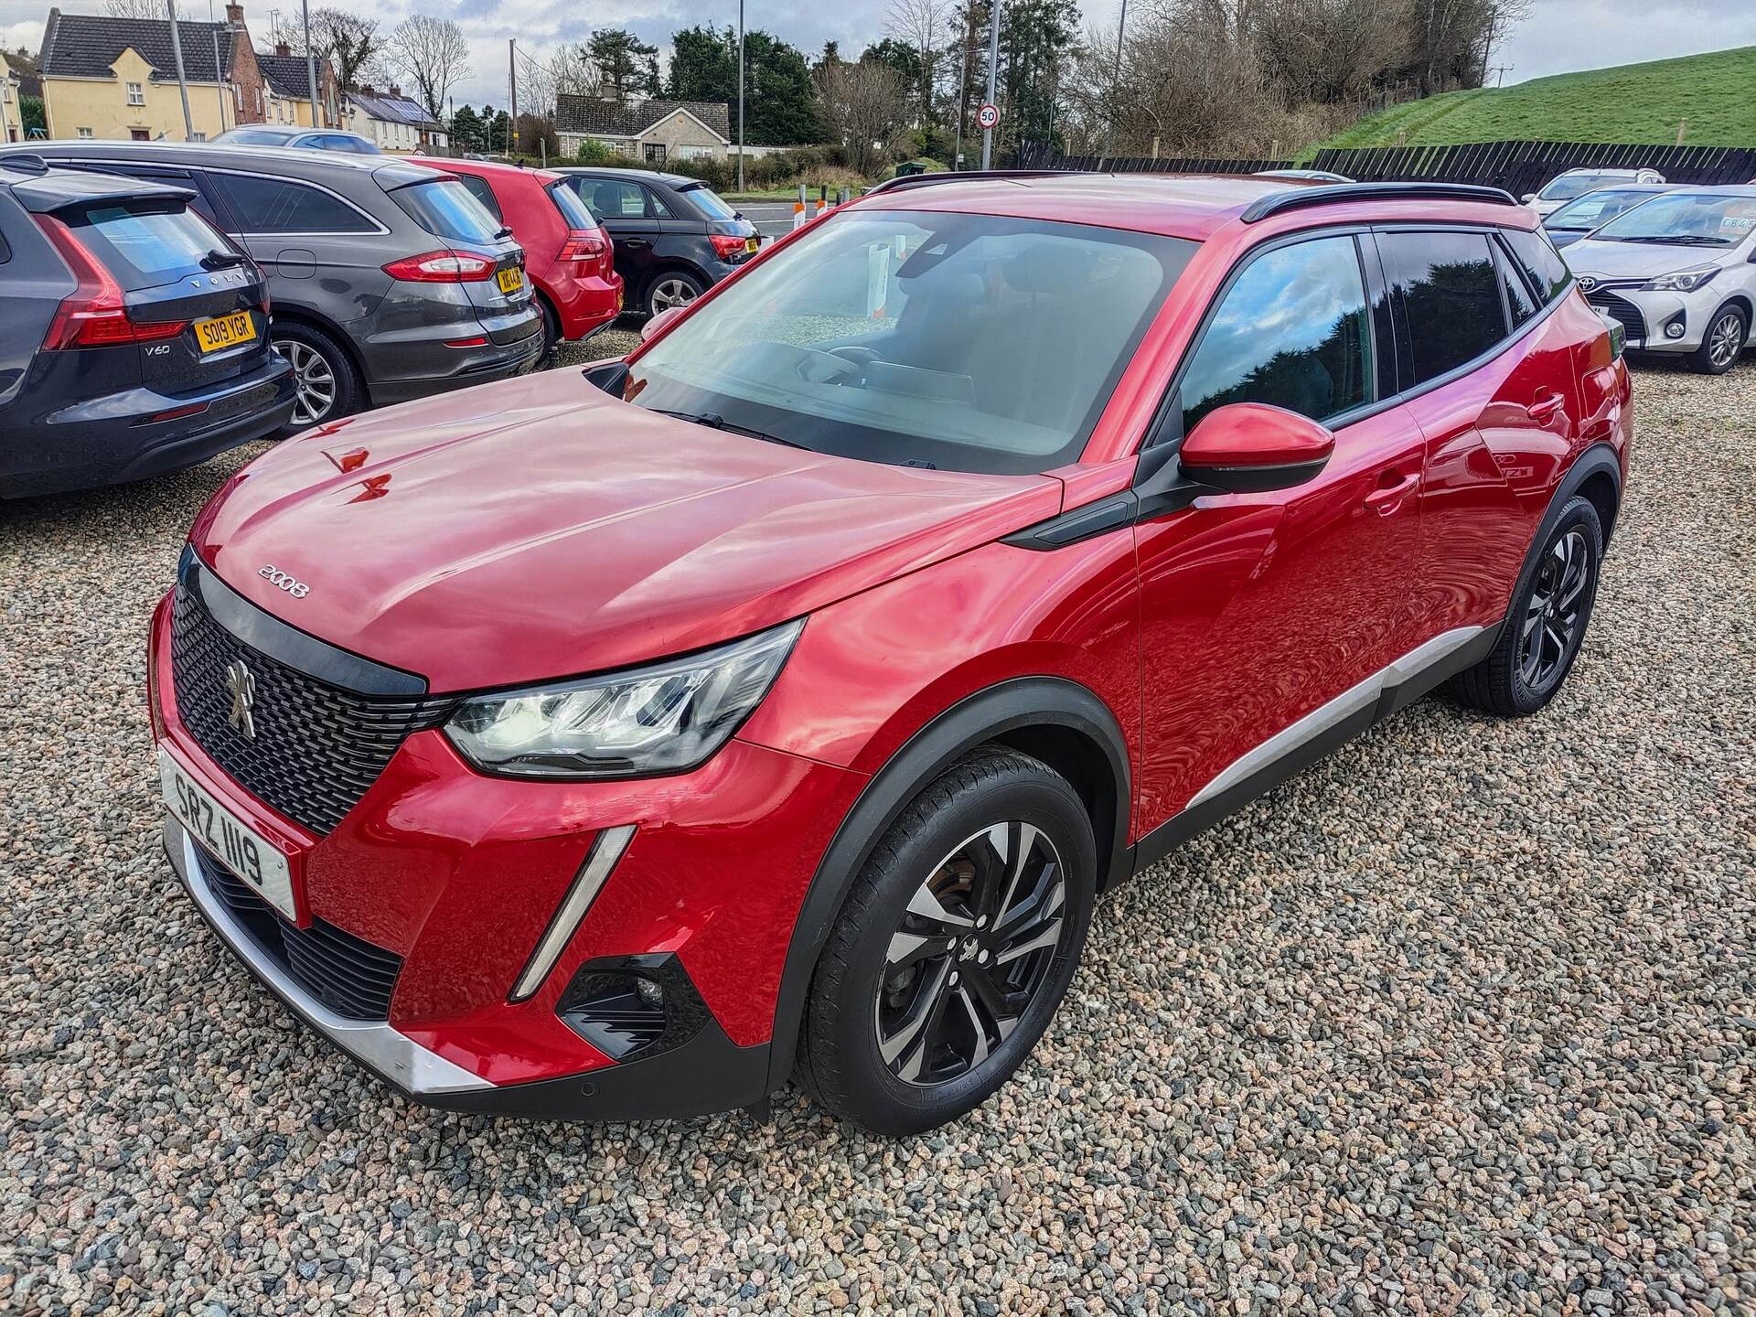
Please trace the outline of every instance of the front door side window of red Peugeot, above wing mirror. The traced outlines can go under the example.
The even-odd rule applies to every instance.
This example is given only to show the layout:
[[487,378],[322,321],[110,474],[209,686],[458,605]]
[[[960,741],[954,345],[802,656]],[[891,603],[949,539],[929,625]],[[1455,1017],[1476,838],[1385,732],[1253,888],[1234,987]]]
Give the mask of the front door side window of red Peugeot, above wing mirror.
[[1257,256],[1226,290],[1184,372],[1184,428],[1227,402],[1322,421],[1375,397],[1359,251],[1319,237]]

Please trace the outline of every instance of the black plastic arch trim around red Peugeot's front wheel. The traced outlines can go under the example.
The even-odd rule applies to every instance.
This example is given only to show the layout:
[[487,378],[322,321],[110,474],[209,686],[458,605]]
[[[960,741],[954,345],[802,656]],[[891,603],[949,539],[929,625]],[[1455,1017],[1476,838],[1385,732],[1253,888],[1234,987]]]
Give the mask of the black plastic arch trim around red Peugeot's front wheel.
[[[811,885],[787,945],[780,992],[774,1001],[774,1034],[769,1043],[769,1092],[790,1078],[804,1018],[804,1001],[817,971],[817,957],[829,941],[836,917],[853,889],[866,857],[910,801],[943,769],[989,741],[1033,727],[1061,727],[1098,746],[1108,762],[1115,788],[1115,820],[1108,855],[1099,838],[1098,889],[1105,890],[1131,871],[1127,827],[1133,806],[1127,741],[1110,708],[1076,681],[1026,676],[1001,681],[954,704],[915,732],[866,783],[848,810],[829,848],[817,864]],[[1094,820],[1094,829],[1098,820]]]

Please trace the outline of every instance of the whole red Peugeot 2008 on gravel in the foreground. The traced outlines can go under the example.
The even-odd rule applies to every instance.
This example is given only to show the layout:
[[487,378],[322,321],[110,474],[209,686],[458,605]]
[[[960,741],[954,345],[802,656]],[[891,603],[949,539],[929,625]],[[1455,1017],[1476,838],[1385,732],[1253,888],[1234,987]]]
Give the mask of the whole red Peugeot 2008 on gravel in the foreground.
[[1547,704],[1619,346],[1486,188],[910,179],[227,481],[153,618],[170,860],[420,1101],[931,1127],[1101,892],[1440,683]]

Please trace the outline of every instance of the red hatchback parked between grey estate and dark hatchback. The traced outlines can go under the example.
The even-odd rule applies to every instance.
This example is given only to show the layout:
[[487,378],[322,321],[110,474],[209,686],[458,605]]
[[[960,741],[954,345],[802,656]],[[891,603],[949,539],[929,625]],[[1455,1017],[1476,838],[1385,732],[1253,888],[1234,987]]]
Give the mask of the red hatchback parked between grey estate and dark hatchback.
[[562,186],[560,174],[485,160],[421,160],[455,174],[525,249],[525,270],[543,307],[543,360],[564,339],[583,339],[622,314],[622,276],[609,234]]

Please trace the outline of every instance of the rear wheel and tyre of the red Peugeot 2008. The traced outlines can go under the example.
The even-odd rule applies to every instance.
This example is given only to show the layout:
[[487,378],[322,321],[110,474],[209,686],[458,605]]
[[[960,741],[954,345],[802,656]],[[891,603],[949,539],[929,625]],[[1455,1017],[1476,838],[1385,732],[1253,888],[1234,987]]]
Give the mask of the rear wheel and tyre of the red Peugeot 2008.
[[1501,718],[1522,718],[1554,699],[1586,641],[1601,562],[1598,509],[1575,495],[1544,537],[1494,648],[1452,680],[1452,692]]

